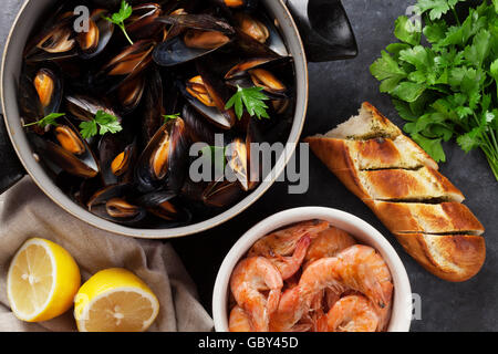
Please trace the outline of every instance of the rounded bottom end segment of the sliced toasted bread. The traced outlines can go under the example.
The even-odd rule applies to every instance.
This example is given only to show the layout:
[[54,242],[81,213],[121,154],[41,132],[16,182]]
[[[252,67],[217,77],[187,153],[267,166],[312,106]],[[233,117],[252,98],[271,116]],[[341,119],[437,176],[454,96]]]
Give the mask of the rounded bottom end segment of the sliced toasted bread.
[[427,271],[440,279],[466,281],[486,259],[486,242],[475,235],[396,233],[404,249]]

